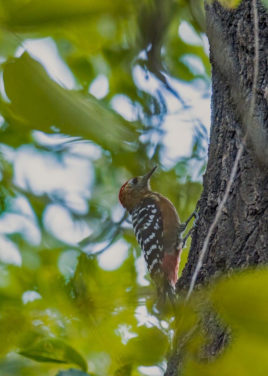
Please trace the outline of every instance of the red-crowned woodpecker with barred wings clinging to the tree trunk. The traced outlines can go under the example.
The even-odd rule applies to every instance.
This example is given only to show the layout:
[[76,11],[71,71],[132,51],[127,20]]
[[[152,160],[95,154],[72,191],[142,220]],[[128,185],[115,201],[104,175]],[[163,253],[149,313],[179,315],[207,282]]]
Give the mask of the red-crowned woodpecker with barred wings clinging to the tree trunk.
[[[161,306],[166,305],[168,295],[176,317],[175,283],[178,279],[181,252],[188,236],[197,226],[199,217],[193,212],[187,221],[180,223],[172,202],[151,190],[150,178],[157,167],[158,165],[144,176],[128,180],[119,191],[119,201],[132,216],[137,241],[157,287],[158,302]],[[185,238],[182,238],[193,217],[193,227]]]

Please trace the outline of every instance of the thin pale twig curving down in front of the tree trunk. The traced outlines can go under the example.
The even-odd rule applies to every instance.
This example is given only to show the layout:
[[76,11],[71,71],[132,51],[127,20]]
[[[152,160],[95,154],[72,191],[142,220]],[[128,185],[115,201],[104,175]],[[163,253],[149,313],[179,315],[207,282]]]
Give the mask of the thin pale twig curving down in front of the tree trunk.
[[191,293],[194,290],[194,285],[196,283],[197,275],[202,267],[203,264],[203,259],[205,257],[206,249],[208,247],[209,240],[211,238],[212,232],[214,228],[218,224],[218,220],[220,218],[221,212],[223,210],[224,205],[226,204],[227,198],[229,196],[230,190],[233,185],[233,181],[235,180],[235,175],[236,175],[236,170],[238,166],[238,162],[240,161],[241,155],[243,153],[246,141],[247,141],[247,136],[250,128],[250,123],[252,120],[252,115],[253,115],[253,110],[254,110],[254,105],[255,105],[255,99],[256,99],[256,89],[257,89],[257,77],[259,73],[259,27],[258,27],[258,10],[257,10],[257,0],[253,0],[253,13],[254,13],[254,76],[253,76],[253,83],[252,83],[252,98],[251,98],[251,104],[250,104],[250,111],[248,114],[248,122],[246,124],[246,132],[245,135],[241,141],[241,144],[239,145],[238,152],[236,153],[235,157],[235,162],[233,164],[232,172],[230,175],[229,182],[227,184],[226,190],[223,195],[223,199],[221,200],[220,205],[218,206],[214,221],[212,222],[211,226],[208,229],[208,233],[206,235],[202,250],[200,252],[196,268],[194,270],[193,277],[191,279],[191,284],[189,291],[186,296],[186,302],[189,300]]

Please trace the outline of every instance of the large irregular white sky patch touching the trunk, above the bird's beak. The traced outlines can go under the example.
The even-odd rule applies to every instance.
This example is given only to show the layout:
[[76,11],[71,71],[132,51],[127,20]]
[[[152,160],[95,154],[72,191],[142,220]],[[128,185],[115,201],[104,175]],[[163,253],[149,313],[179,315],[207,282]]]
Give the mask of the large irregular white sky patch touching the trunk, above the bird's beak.
[[[145,78],[141,68],[134,68],[136,84],[152,94],[156,94],[155,88],[159,83],[152,74]],[[211,86],[202,79],[195,79],[191,83],[185,83],[177,79],[166,77],[170,86],[183,98],[185,106],[166,88],[162,88],[162,94],[166,101],[167,115],[164,117],[161,130],[161,138],[164,148],[160,151],[161,162],[166,168],[172,168],[179,158],[190,156],[193,143],[193,129],[199,123],[207,130],[207,139],[204,141],[207,148],[208,135],[211,123]],[[157,133],[157,130],[154,131]],[[151,139],[153,136],[151,136]]]

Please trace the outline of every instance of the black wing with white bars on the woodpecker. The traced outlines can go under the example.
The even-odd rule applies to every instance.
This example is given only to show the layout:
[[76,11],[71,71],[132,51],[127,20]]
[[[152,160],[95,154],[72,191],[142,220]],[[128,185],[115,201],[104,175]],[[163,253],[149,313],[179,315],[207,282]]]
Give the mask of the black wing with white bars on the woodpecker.
[[140,201],[132,212],[132,223],[150,276],[159,286],[163,279],[164,240],[163,219],[156,201],[150,197]]

